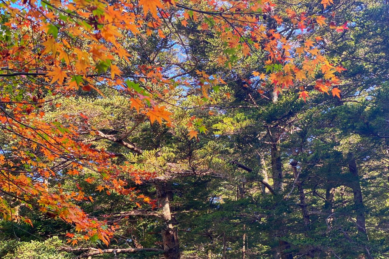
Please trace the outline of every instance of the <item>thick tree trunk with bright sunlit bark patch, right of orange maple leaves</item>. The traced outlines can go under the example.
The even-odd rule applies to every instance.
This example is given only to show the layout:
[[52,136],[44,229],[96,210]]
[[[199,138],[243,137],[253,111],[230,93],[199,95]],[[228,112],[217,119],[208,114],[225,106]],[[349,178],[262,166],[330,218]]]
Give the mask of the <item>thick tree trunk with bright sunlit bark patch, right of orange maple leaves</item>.
[[180,259],[180,248],[175,219],[170,213],[169,193],[165,182],[156,184],[157,200],[159,203],[163,228],[161,230],[165,259]]

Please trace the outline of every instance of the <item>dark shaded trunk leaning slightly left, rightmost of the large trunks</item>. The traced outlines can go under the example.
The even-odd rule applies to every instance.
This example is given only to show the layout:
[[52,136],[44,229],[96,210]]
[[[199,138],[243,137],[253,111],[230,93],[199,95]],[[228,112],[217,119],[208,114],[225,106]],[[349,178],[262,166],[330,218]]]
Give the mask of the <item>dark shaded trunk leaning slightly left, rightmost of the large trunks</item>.
[[[349,171],[351,173],[351,179],[348,182],[348,186],[352,189],[352,193],[354,195],[354,209],[356,212],[357,218],[357,229],[358,235],[361,237],[363,242],[369,242],[368,235],[366,231],[366,219],[364,215],[364,205],[362,198],[362,190],[361,185],[359,183],[358,169],[357,164],[355,162],[354,153],[349,152],[347,154],[347,161],[349,164]],[[365,256],[369,259],[373,258],[370,254],[370,249],[368,247],[364,247]]]

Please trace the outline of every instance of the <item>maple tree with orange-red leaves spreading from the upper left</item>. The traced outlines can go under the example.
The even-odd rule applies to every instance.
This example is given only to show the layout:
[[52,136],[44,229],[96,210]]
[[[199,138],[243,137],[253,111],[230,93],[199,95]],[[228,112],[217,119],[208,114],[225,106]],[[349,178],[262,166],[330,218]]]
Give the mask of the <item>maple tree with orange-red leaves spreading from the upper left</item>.
[[[322,0],[320,6],[328,10],[333,5],[331,0]],[[193,115],[192,107],[186,105],[202,109],[216,106],[216,99],[235,98],[233,91],[226,90],[235,81],[231,75],[244,89],[272,103],[289,90],[304,102],[317,93],[342,101],[339,75],[345,68],[326,57],[326,41],[311,33],[324,29],[335,35],[347,32],[347,20],[337,19],[335,12],[281,8],[268,0],[42,0],[2,1],[0,6],[4,9],[0,127],[9,140],[0,146],[0,191],[5,194],[0,197],[0,212],[7,220],[31,225],[19,213],[20,206],[60,218],[75,228],[67,234],[72,245],[81,240],[101,240],[108,245],[119,227],[86,214],[79,204],[93,203],[95,198],[86,195],[79,182],[72,186],[74,190],[64,190],[59,179],[65,176],[94,184],[98,193],[125,196],[137,207],[156,207],[156,201],[134,186],[158,179],[157,163],[145,167],[117,164],[115,159],[122,154],[97,148],[91,144],[94,140],[126,147],[138,154],[133,160],[147,157],[149,151],[126,140],[147,118],[151,127],[177,128],[185,131],[187,140],[200,142],[199,136],[209,132],[204,117],[215,112],[210,108],[208,114]],[[189,37],[177,32],[189,27],[212,35],[209,59],[213,69],[207,69],[206,62],[187,49]],[[158,53],[138,55],[134,49],[147,40],[168,49],[171,63],[160,65]],[[251,59],[256,60],[254,69],[247,66],[250,69],[237,71]],[[68,112],[62,107],[67,100],[88,94],[96,94],[97,99],[121,96],[121,105],[136,111],[134,127],[110,134],[98,128],[103,123],[96,123],[88,110]],[[258,106],[257,97],[249,93],[251,105]],[[184,112],[173,111],[175,107]],[[53,119],[59,111],[60,116]],[[85,135],[91,139],[84,139]],[[277,147],[272,151],[277,153]],[[193,165],[190,169],[194,170]],[[200,169],[207,171],[205,166]],[[156,184],[163,201],[161,188]],[[18,202],[12,206],[11,199]],[[164,217],[171,221],[170,215]],[[167,227],[173,228],[173,224]],[[165,239],[168,232],[162,233]],[[165,257],[175,258],[172,254]]]

